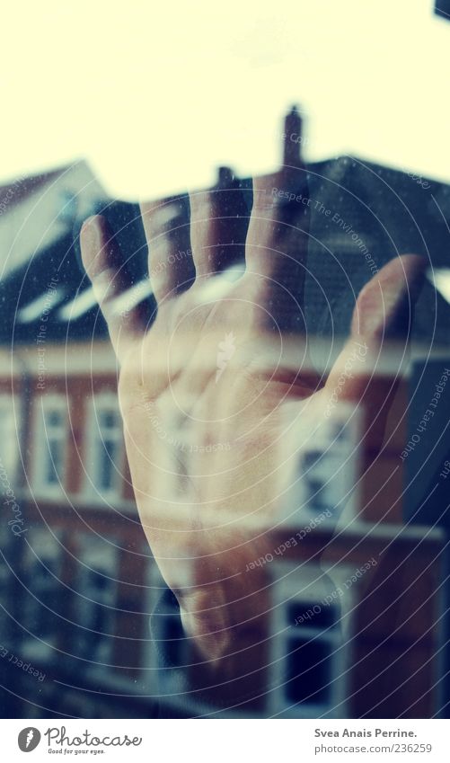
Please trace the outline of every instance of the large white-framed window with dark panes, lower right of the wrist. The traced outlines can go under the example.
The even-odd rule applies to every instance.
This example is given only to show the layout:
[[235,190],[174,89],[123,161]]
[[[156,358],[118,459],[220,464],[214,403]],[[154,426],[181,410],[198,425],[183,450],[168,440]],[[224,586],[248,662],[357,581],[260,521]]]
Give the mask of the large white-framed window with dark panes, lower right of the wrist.
[[348,646],[340,628],[342,601],[317,564],[279,563],[272,608],[270,713],[342,717]]

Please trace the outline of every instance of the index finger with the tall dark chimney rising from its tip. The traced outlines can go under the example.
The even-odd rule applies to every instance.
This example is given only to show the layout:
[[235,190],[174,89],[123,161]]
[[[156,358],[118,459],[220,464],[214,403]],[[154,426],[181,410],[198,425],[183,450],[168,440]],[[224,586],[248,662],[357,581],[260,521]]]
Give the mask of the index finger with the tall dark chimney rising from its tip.
[[298,143],[290,140],[294,132],[300,140],[301,120],[295,110],[286,120],[285,164],[278,173],[253,180],[245,256],[248,274],[259,284],[260,300],[269,305],[276,322],[303,327],[311,200]]

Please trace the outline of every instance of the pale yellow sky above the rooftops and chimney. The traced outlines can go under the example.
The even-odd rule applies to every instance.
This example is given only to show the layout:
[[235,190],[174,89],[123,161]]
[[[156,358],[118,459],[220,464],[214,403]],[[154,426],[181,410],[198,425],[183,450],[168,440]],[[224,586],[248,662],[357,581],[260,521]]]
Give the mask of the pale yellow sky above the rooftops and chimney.
[[85,156],[114,195],[353,153],[450,180],[450,22],[432,0],[43,0],[3,11],[0,182]]

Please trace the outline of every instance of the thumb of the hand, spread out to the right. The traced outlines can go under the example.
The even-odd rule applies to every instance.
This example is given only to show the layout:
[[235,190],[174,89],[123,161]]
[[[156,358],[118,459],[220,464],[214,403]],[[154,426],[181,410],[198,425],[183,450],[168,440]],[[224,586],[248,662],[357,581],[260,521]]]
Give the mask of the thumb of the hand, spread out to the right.
[[362,404],[367,445],[378,449],[386,419],[408,360],[414,305],[426,262],[405,254],[387,265],[362,289],[353,313],[349,342],[325,385],[327,410],[350,400]]

